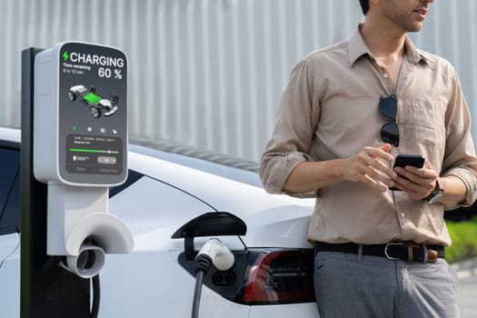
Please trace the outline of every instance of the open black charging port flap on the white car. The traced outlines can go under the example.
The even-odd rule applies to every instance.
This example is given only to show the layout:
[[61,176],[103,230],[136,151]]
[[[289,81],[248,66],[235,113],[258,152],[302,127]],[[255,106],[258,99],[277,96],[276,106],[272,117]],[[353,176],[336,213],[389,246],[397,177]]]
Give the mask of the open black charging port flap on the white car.
[[228,212],[209,212],[199,215],[181,226],[171,238],[184,238],[184,248],[187,260],[193,260],[194,237],[196,236],[226,236],[244,235],[247,225],[234,214]]

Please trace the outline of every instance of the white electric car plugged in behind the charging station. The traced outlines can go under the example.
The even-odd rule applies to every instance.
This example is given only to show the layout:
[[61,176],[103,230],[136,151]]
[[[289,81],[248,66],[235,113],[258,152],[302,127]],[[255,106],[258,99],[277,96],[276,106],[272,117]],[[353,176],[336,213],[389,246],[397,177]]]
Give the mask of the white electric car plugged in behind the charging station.
[[[20,171],[20,131],[0,128],[0,316],[5,318],[19,316]],[[194,251],[216,237],[235,256],[231,269],[212,268],[204,276],[199,317],[318,317],[313,248],[306,242],[312,211],[312,200],[266,194],[256,172],[131,144],[128,180],[110,189],[110,213],[129,227],[134,250],[106,255],[99,317],[190,317],[194,261],[184,253],[184,238],[172,236],[211,212],[234,214],[247,229],[222,236],[215,226],[214,235],[194,238]]]

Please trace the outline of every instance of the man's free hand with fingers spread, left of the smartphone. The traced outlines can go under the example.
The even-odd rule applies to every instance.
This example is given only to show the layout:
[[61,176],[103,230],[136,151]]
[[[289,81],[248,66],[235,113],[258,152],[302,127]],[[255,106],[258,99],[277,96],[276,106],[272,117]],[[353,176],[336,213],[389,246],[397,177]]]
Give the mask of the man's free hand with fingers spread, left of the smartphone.
[[358,154],[348,159],[346,179],[361,182],[380,192],[393,186],[397,174],[390,168],[394,157],[390,154],[391,144],[381,147],[364,147]]

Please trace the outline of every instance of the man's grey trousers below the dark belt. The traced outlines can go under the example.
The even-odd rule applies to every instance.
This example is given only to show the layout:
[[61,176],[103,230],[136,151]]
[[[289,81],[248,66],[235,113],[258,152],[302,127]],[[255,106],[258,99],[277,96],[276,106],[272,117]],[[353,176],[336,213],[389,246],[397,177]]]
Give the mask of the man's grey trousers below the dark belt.
[[351,253],[316,253],[321,318],[457,318],[457,275],[443,259],[408,263]]

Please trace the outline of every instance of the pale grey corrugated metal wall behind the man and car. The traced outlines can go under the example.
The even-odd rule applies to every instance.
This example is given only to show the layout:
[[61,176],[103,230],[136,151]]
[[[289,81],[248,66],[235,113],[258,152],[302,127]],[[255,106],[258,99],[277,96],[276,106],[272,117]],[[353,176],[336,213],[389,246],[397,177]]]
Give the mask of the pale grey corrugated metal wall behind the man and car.
[[[130,138],[258,161],[290,72],[353,35],[358,0],[0,0],[0,125],[20,125],[20,56],[62,41],[129,57]],[[477,2],[435,1],[420,48],[451,61],[477,113]],[[475,120],[474,120],[475,122]],[[477,128],[473,129],[474,139]]]

